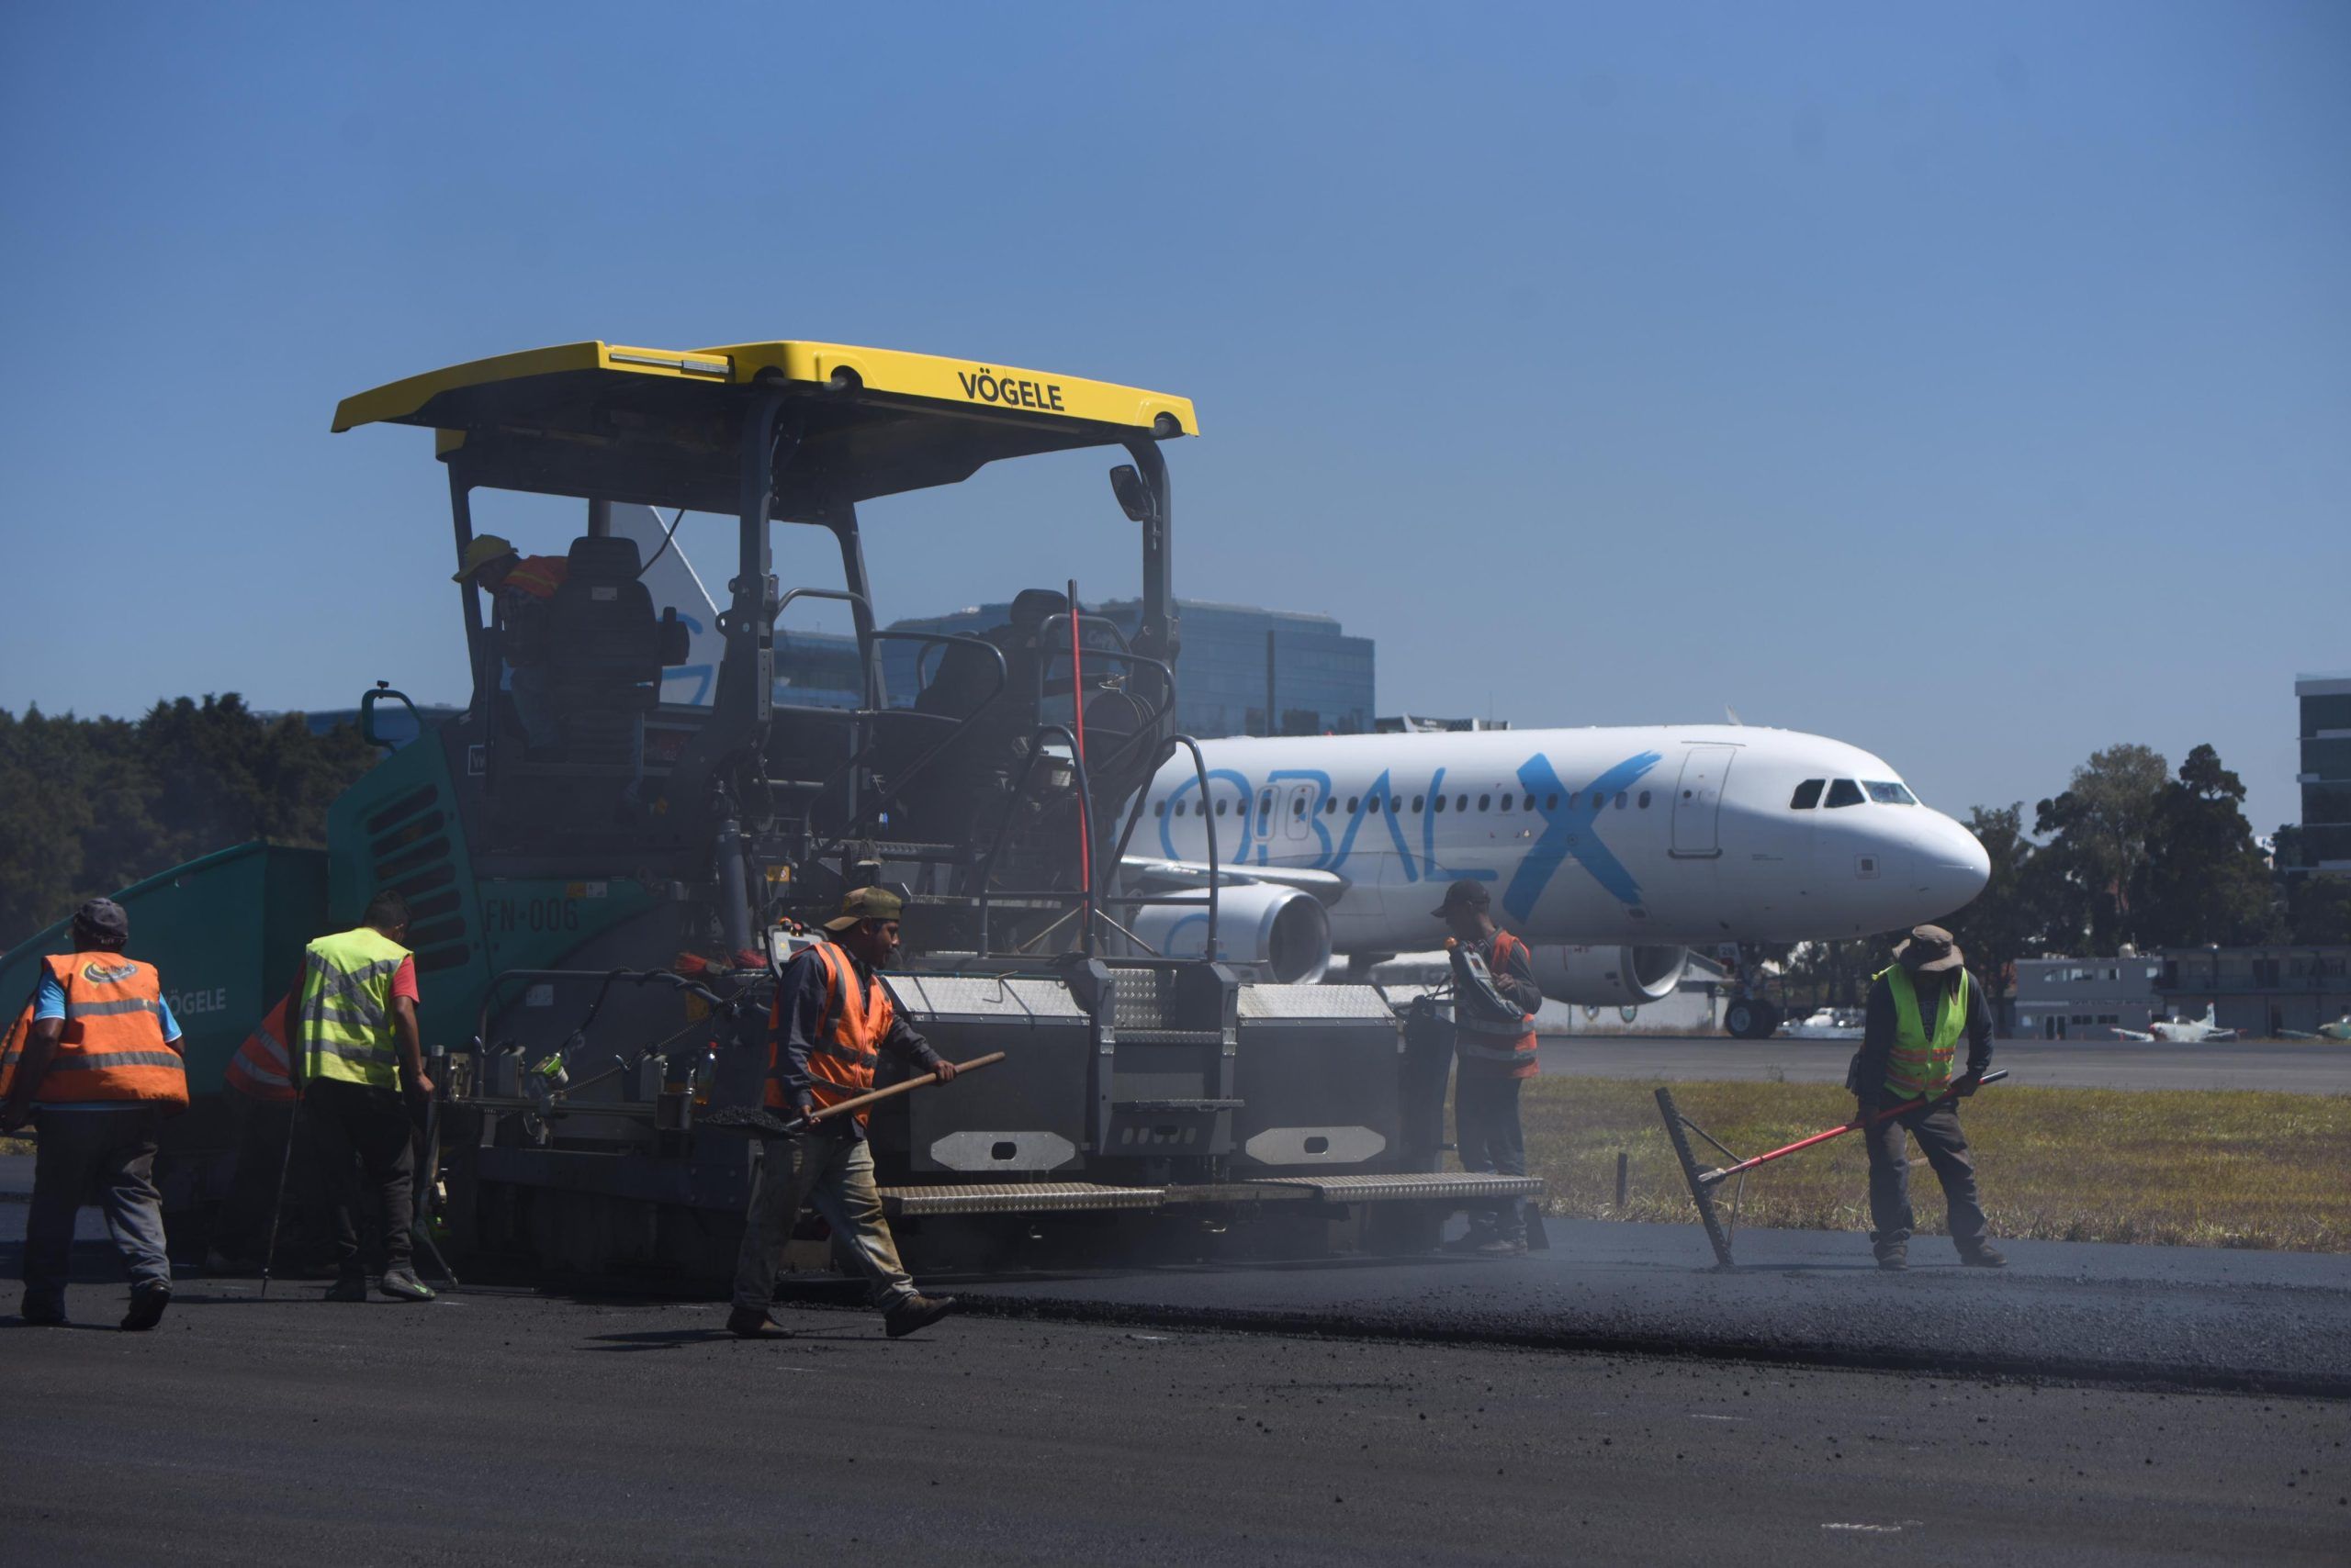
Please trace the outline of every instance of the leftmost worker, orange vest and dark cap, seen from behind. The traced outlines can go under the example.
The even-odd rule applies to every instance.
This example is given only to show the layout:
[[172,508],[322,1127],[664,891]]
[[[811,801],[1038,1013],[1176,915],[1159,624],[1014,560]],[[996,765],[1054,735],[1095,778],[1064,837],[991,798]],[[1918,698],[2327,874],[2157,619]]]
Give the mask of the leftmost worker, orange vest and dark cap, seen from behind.
[[179,1020],[153,964],[122,957],[132,919],[113,898],[73,914],[73,952],[42,959],[33,1018],[0,1133],[35,1119],[33,1204],[24,1225],[24,1321],[66,1321],[66,1272],[82,1194],[99,1190],[106,1229],[129,1265],[125,1328],[153,1328],[172,1305],[155,1150],[165,1117],[188,1110]]

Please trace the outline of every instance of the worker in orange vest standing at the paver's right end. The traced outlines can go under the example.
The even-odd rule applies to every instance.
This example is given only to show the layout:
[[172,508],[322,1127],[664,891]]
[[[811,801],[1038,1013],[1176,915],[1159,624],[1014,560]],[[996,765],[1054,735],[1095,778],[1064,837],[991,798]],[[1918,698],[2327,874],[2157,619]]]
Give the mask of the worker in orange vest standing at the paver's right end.
[[[1519,1086],[1535,1077],[1535,1011],[1542,987],[1526,943],[1493,924],[1493,893],[1483,882],[1455,882],[1432,914],[1453,929],[1453,1145],[1462,1171],[1526,1175],[1526,1133],[1519,1126]],[[1505,1006],[1476,1006],[1469,954],[1486,964]],[[1526,1251],[1526,1204],[1502,1199],[1469,1213],[1469,1234],[1451,1244],[1512,1258]]]

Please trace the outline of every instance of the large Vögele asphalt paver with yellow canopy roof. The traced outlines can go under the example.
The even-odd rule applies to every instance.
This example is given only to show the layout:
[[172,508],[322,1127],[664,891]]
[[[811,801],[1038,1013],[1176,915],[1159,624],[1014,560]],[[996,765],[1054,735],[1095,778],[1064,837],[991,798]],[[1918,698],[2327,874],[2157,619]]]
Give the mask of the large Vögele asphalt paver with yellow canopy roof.
[[[771,969],[806,940],[795,922],[863,884],[907,898],[900,1011],[950,1058],[1006,1053],[875,1117],[917,1253],[1154,1237],[1300,1251],[1368,1213],[1422,1229],[1531,1187],[1404,1168],[1399,1027],[1375,990],[1251,983],[1262,954],[1230,931],[1206,947],[1225,961],[1159,959],[1126,936],[1140,788],[1192,750],[1173,729],[1161,456],[1197,430],[1187,400],[830,343],[569,343],[360,393],[334,428],[369,423],[437,433],[458,552],[489,491],[581,508],[538,654],[560,738],[545,717],[524,731],[501,628],[463,588],[470,708],[329,813],[327,924],[379,886],[416,917],[423,1032],[449,1058],[437,1138],[458,1248],[722,1274],[748,1140],[701,1119],[759,1103]],[[1025,635],[877,625],[860,503],[1079,447],[1124,458],[1112,491],[1143,545],[1131,635],[1067,599],[1032,599],[1051,614]],[[658,701],[684,635],[656,616],[616,505],[734,517],[708,705]],[[778,581],[785,529],[830,545],[825,585]],[[778,618],[811,597],[856,628],[851,708],[778,684]],[[893,639],[915,644],[915,693],[884,691]],[[364,696],[369,738],[400,703]],[[1190,900],[1213,931],[1213,877],[1150,900]],[[179,980],[172,940],[141,936]],[[240,1001],[242,1032],[270,997]]]

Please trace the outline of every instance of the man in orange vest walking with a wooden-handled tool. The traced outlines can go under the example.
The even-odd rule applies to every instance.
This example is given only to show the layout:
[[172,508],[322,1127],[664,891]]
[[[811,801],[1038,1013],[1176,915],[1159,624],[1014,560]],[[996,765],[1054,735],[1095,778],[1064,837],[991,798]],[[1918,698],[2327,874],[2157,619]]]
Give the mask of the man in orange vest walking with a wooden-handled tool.
[[[903,900],[886,889],[853,889],[839,917],[825,922],[832,940],[802,947],[776,978],[769,1011],[766,1107],[781,1117],[806,1117],[875,1086],[882,1053],[915,1072],[936,1072],[945,1084],[955,1065],[898,1018],[877,969],[898,957]],[[813,1204],[849,1246],[889,1338],[903,1338],[955,1312],[952,1295],[922,1295],[898,1262],[898,1244],[882,1215],[875,1157],[865,1145],[865,1112],[811,1124],[788,1138],[762,1138],[759,1173],[743,1220],[736,1258],[734,1312],[726,1328],[743,1338],[773,1324],[776,1269],[792,1239],[799,1206]]]

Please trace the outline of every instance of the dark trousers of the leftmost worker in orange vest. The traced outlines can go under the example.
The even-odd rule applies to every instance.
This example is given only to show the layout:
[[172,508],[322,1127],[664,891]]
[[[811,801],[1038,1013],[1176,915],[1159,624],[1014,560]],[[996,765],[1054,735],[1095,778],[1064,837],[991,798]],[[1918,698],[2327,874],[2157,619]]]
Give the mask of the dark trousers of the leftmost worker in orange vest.
[[129,1267],[132,1288],[172,1288],[162,1253],[162,1197],[155,1192],[153,1110],[38,1110],[33,1208],[24,1218],[24,1298],[63,1307],[73,1265],[73,1218],[85,1197],[106,1208],[106,1232]]

